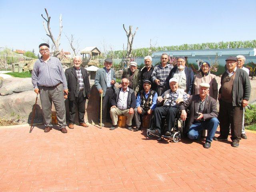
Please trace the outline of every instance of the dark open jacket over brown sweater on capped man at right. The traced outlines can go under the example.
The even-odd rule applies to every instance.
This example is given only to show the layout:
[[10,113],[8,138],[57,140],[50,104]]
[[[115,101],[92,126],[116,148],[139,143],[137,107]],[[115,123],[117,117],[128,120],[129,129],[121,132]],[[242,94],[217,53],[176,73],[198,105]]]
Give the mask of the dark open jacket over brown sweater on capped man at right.
[[[221,76],[220,80],[220,89],[219,93],[221,94],[221,87],[222,87],[222,81],[223,79],[228,75],[227,72],[224,72],[223,75]],[[250,84],[250,79],[245,70],[242,70],[240,68],[236,68],[236,76],[234,78],[233,82],[233,90],[232,90],[232,95],[233,95],[233,106],[242,106],[242,100],[249,100],[250,99],[250,94],[251,94],[251,84]]]

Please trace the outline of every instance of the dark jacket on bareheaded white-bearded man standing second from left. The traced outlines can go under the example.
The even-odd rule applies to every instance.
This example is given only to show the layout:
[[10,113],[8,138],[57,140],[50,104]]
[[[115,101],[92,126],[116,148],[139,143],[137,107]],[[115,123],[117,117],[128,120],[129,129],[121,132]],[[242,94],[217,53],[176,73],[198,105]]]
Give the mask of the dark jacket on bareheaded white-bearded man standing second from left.
[[[86,97],[86,99],[88,99],[89,98],[88,96],[90,96],[90,92],[91,92],[88,73],[85,68],[81,67],[80,69],[84,79],[83,95],[84,97]],[[66,69],[65,76],[68,84],[68,100],[74,101],[79,94],[79,83],[78,83],[78,77],[76,75],[75,68],[71,67]]]

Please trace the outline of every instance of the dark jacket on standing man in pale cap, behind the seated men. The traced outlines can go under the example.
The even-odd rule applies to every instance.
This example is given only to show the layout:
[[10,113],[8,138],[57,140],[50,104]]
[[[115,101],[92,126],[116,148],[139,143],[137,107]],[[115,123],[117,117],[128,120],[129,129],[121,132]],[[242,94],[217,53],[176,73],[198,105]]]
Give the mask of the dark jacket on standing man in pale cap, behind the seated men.
[[[132,75],[132,72],[131,72],[130,68],[125,68],[123,71],[123,74],[122,74],[122,78],[129,79],[129,77],[131,75]],[[132,87],[133,87],[133,90],[136,95],[140,91],[140,86],[141,86],[140,81],[141,81],[141,71],[139,69],[136,69],[136,71],[134,72],[134,75],[133,75],[133,79],[132,79]]]

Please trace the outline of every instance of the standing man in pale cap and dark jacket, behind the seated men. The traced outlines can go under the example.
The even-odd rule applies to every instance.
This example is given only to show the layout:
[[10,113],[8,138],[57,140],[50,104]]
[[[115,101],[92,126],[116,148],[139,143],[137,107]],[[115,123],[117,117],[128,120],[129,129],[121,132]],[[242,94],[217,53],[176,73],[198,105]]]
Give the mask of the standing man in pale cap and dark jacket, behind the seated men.
[[[122,74],[122,78],[127,78],[129,80],[129,88],[134,90],[135,95],[140,91],[140,80],[141,80],[141,72],[137,69],[137,63],[132,61],[130,62],[130,67],[124,69]],[[120,87],[122,85],[120,84]]]

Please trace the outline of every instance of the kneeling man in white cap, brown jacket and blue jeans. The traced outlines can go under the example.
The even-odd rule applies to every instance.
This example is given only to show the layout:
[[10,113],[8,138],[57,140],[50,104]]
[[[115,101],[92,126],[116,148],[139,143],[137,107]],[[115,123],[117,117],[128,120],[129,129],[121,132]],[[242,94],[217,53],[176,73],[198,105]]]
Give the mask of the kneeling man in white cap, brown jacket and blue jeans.
[[208,83],[201,83],[199,94],[191,95],[186,102],[180,105],[180,117],[183,121],[187,118],[186,109],[190,111],[187,124],[188,138],[199,140],[200,132],[203,129],[208,130],[204,148],[211,147],[212,138],[219,124],[216,100],[208,96],[209,87]]

